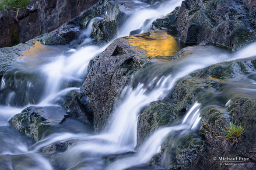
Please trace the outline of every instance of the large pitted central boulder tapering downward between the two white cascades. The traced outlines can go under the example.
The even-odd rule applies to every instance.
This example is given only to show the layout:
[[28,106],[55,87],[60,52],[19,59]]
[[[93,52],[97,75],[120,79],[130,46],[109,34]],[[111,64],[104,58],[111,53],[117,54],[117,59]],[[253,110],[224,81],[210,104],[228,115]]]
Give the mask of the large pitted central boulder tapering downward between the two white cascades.
[[[124,38],[113,41],[91,61],[81,87],[94,114],[96,132],[105,128],[112,116],[113,103],[121,94],[132,72],[147,61],[145,51],[131,46]],[[81,103],[81,99],[79,100]]]

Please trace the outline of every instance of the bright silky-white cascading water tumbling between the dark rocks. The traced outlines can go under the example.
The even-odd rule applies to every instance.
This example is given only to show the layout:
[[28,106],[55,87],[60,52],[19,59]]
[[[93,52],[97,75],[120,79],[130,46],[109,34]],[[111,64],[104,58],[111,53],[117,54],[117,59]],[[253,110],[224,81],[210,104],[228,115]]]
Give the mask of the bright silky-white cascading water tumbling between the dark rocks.
[[[137,4],[137,7],[131,8],[128,11],[129,17],[120,28],[117,37],[127,36],[134,30],[140,30],[140,32],[148,31],[153,20],[168,14],[176,6],[179,6],[181,2],[182,0],[168,0],[160,5],[156,3],[150,7],[146,3],[133,1],[133,3]],[[57,50],[58,48],[53,48],[52,51],[58,51],[54,54],[54,57],[48,57],[43,61],[36,57],[30,58],[30,60],[24,61],[24,63],[12,66],[11,71],[15,71],[13,69],[15,67],[22,71],[26,68],[28,71],[25,73],[29,73],[29,75],[34,74],[33,70],[35,68],[40,68],[40,71],[37,70],[36,74],[41,75],[38,79],[44,78],[41,80],[43,92],[39,92],[41,94],[38,100],[39,104],[36,104],[33,99],[36,106],[55,105],[58,97],[67,94],[69,91],[79,89],[91,59],[100,54],[108,46],[108,44],[103,47],[90,44],[93,41],[89,36],[91,34],[91,26],[95,20],[101,19],[100,17],[96,17],[88,24],[87,29],[82,34],[86,38],[79,46],[81,49],[69,49],[68,51],[66,49],[60,54]],[[199,103],[201,101],[194,101],[193,106],[190,107],[178,125],[156,130],[140,146],[137,153],[129,153],[130,151],[136,151],[137,122],[141,109],[151,102],[164,99],[172,91],[175,83],[180,78],[189,75],[193,71],[222,61],[255,57],[255,47],[256,44],[254,43],[235,54],[229,54],[214,46],[198,46],[193,48],[190,54],[182,58],[177,58],[173,61],[159,61],[158,63],[152,64],[149,68],[146,67],[137,71],[133,74],[130,85],[123,90],[122,100],[114,111],[115,113],[108,132],[98,135],[89,134],[86,128],[84,128],[86,129],[85,132],[79,133],[75,133],[75,130],[67,131],[64,128],[63,131],[59,132],[56,130],[56,133],[51,133],[49,136],[45,136],[33,144],[33,141],[18,133],[7,123],[14,114],[21,112],[22,109],[32,103],[32,101],[27,102],[20,108],[11,106],[11,101],[18,96],[15,91],[11,90],[6,95],[7,98],[4,98],[6,105],[0,106],[0,126],[2,127],[0,131],[0,159],[7,159],[9,161],[7,161],[7,165],[10,169],[12,169],[11,167],[15,167],[21,170],[122,170],[147,163],[152,156],[160,152],[161,144],[169,133],[175,131],[193,131],[198,128],[201,119],[199,110]],[[47,49],[50,48],[48,47]],[[29,62],[35,60],[38,61],[33,62],[34,64],[32,66],[26,67],[29,65]],[[144,81],[137,80],[137,77],[145,71],[150,71],[151,74],[144,76]],[[35,82],[37,81],[25,82],[25,90],[35,88]],[[76,85],[70,85],[72,83]],[[7,86],[10,86],[10,84],[7,83],[6,78],[3,76],[0,82],[0,90],[5,90]],[[39,89],[39,91],[42,91],[42,89]],[[226,91],[229,92],[229,89]],[[229,97],[231,98],[232,96],[229,95]],[[52,163],[54,167],[49,157],[39,152],[41,149],[53,143],[67,140],[73,140],[75,143],[68,150],[58,155],[58,158]],[[113,161],[108,165],[106,165],[102,158],[111,154],[123,153],[131,155]],[[20,156],[21,162],[12,162],[12,158],[9,155]]]

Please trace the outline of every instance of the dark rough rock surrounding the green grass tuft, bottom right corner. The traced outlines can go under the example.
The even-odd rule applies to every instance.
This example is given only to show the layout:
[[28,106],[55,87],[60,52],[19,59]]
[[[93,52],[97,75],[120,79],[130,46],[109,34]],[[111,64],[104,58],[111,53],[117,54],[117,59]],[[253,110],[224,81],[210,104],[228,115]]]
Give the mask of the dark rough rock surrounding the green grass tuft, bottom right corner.
[[[253,170],[255,165],[255,138],[254,131],[250,130],[254,128],[254,114],[256,109],[255,99],[238,99],[231,103],[228,107],[228,115],[233,116],[230,120],[235,122],[236,125],[241,123],[245,127],[246,131],[242,135],[242,142],[232,143],[231,140],[225,140],[223,130],[221,129],[226,123],[228,123],[228,116],[217,109],[211,109],[203,117],[202,126],[200,132],[207,138],[205,146],[203,146],[203,152],[198,156],[193,164],[193,167],[214,167],[211,169],[224,169],[224,170]],[[244,157],[249,158],[249,161],[244,162],[244,165],[237,166],[222,166],[222,161],[214,160],[214,157]]]

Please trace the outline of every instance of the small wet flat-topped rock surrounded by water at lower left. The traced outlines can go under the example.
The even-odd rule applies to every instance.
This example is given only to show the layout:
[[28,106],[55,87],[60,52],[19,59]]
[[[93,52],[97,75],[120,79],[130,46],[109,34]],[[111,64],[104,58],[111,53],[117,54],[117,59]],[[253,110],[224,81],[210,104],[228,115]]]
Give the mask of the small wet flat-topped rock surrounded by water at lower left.
[[49,133],[51,126],[61,122],[65,114],[65,110],[60,107],[28,107],[13,116],[9,122],[37,142],[43,135]]

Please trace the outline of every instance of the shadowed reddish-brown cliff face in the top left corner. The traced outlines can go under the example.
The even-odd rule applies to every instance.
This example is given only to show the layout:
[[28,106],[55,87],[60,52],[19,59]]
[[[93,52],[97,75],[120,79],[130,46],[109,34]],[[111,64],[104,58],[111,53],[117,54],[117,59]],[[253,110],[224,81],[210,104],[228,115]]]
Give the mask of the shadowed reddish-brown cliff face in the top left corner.
[[25,10],[0,11],[0,48],[24,43],[59,28],[98,0],[31,0]]

